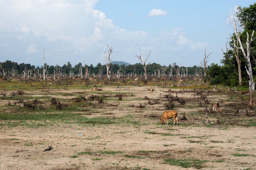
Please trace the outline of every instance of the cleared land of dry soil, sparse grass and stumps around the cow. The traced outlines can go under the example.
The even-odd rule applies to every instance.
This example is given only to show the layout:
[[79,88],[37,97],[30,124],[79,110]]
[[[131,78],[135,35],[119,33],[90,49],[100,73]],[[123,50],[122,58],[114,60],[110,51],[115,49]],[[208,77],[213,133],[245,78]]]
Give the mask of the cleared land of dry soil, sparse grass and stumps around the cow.
[[[0,169],[256,168],[255,116],[245,115],[255,111],[236,90],[33,85],[0,82]],[[217,102],[222,113],[211,110]],[[160,123],[165,106],[179,125]]]

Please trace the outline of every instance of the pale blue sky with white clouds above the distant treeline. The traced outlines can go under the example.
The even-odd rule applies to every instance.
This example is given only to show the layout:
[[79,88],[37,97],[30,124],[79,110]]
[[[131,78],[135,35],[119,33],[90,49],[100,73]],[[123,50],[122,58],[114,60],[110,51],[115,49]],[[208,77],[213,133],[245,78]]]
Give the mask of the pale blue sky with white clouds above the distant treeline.
[[223,58],[230,17],[253,0],[0,0],[0,62],[63,66],[113,61],[200,66]]

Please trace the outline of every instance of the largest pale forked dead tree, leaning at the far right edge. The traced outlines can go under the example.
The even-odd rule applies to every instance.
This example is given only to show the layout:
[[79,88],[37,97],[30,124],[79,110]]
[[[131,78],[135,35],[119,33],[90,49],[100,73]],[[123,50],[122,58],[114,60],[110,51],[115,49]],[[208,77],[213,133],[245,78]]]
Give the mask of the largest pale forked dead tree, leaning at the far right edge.
[[254,35],[254,30],[252,32],[251,35],[251,39],[249,41],[249,33],[248,31],[246,32],[247,34],[247,39],[246,39],[246,52],[243,49],[243,45],[240,39],[240,34],[241,31],[243,30],[244,26],[242,27],[242,29],[239,29],[239,31],[237,31],[237,25],[236,25],[236,21],[235,19],[233,20],[233,24],[234,24],[234,31],[235,31],[235,35],[236,35],[236,41],[239,42],[239,46],[236,45],[236,41],[233,38],[234,41],[234,46],[236,49],[240,49],[243,53],[243,57],[245,59],[245,62],[247,64],[248,69],[245,66],[246,72],[249,75],[249,90],[250,90],[250,103],[249,105],[252,106],[254,103],[254,89],[255,89],[255,83],[253,82],[253,71],[252,71],[252,65],[251,65],[251,61],[250,61],[250,45],[251,43],[255,40],[256,37],[253,38]]

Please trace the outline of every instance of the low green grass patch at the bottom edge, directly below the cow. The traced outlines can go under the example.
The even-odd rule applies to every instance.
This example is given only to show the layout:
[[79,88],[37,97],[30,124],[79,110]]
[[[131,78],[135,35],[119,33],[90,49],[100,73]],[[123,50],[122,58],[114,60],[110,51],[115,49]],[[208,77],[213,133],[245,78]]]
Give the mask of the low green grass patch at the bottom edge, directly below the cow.
[[204,167],[204,163],[208,161],[201,161],[199,159],[184,159],[184,160],[175,160],[175,159],[165,159],[164,160],[169,165],[180,166],[182,168],[196,168],[201,169]]

